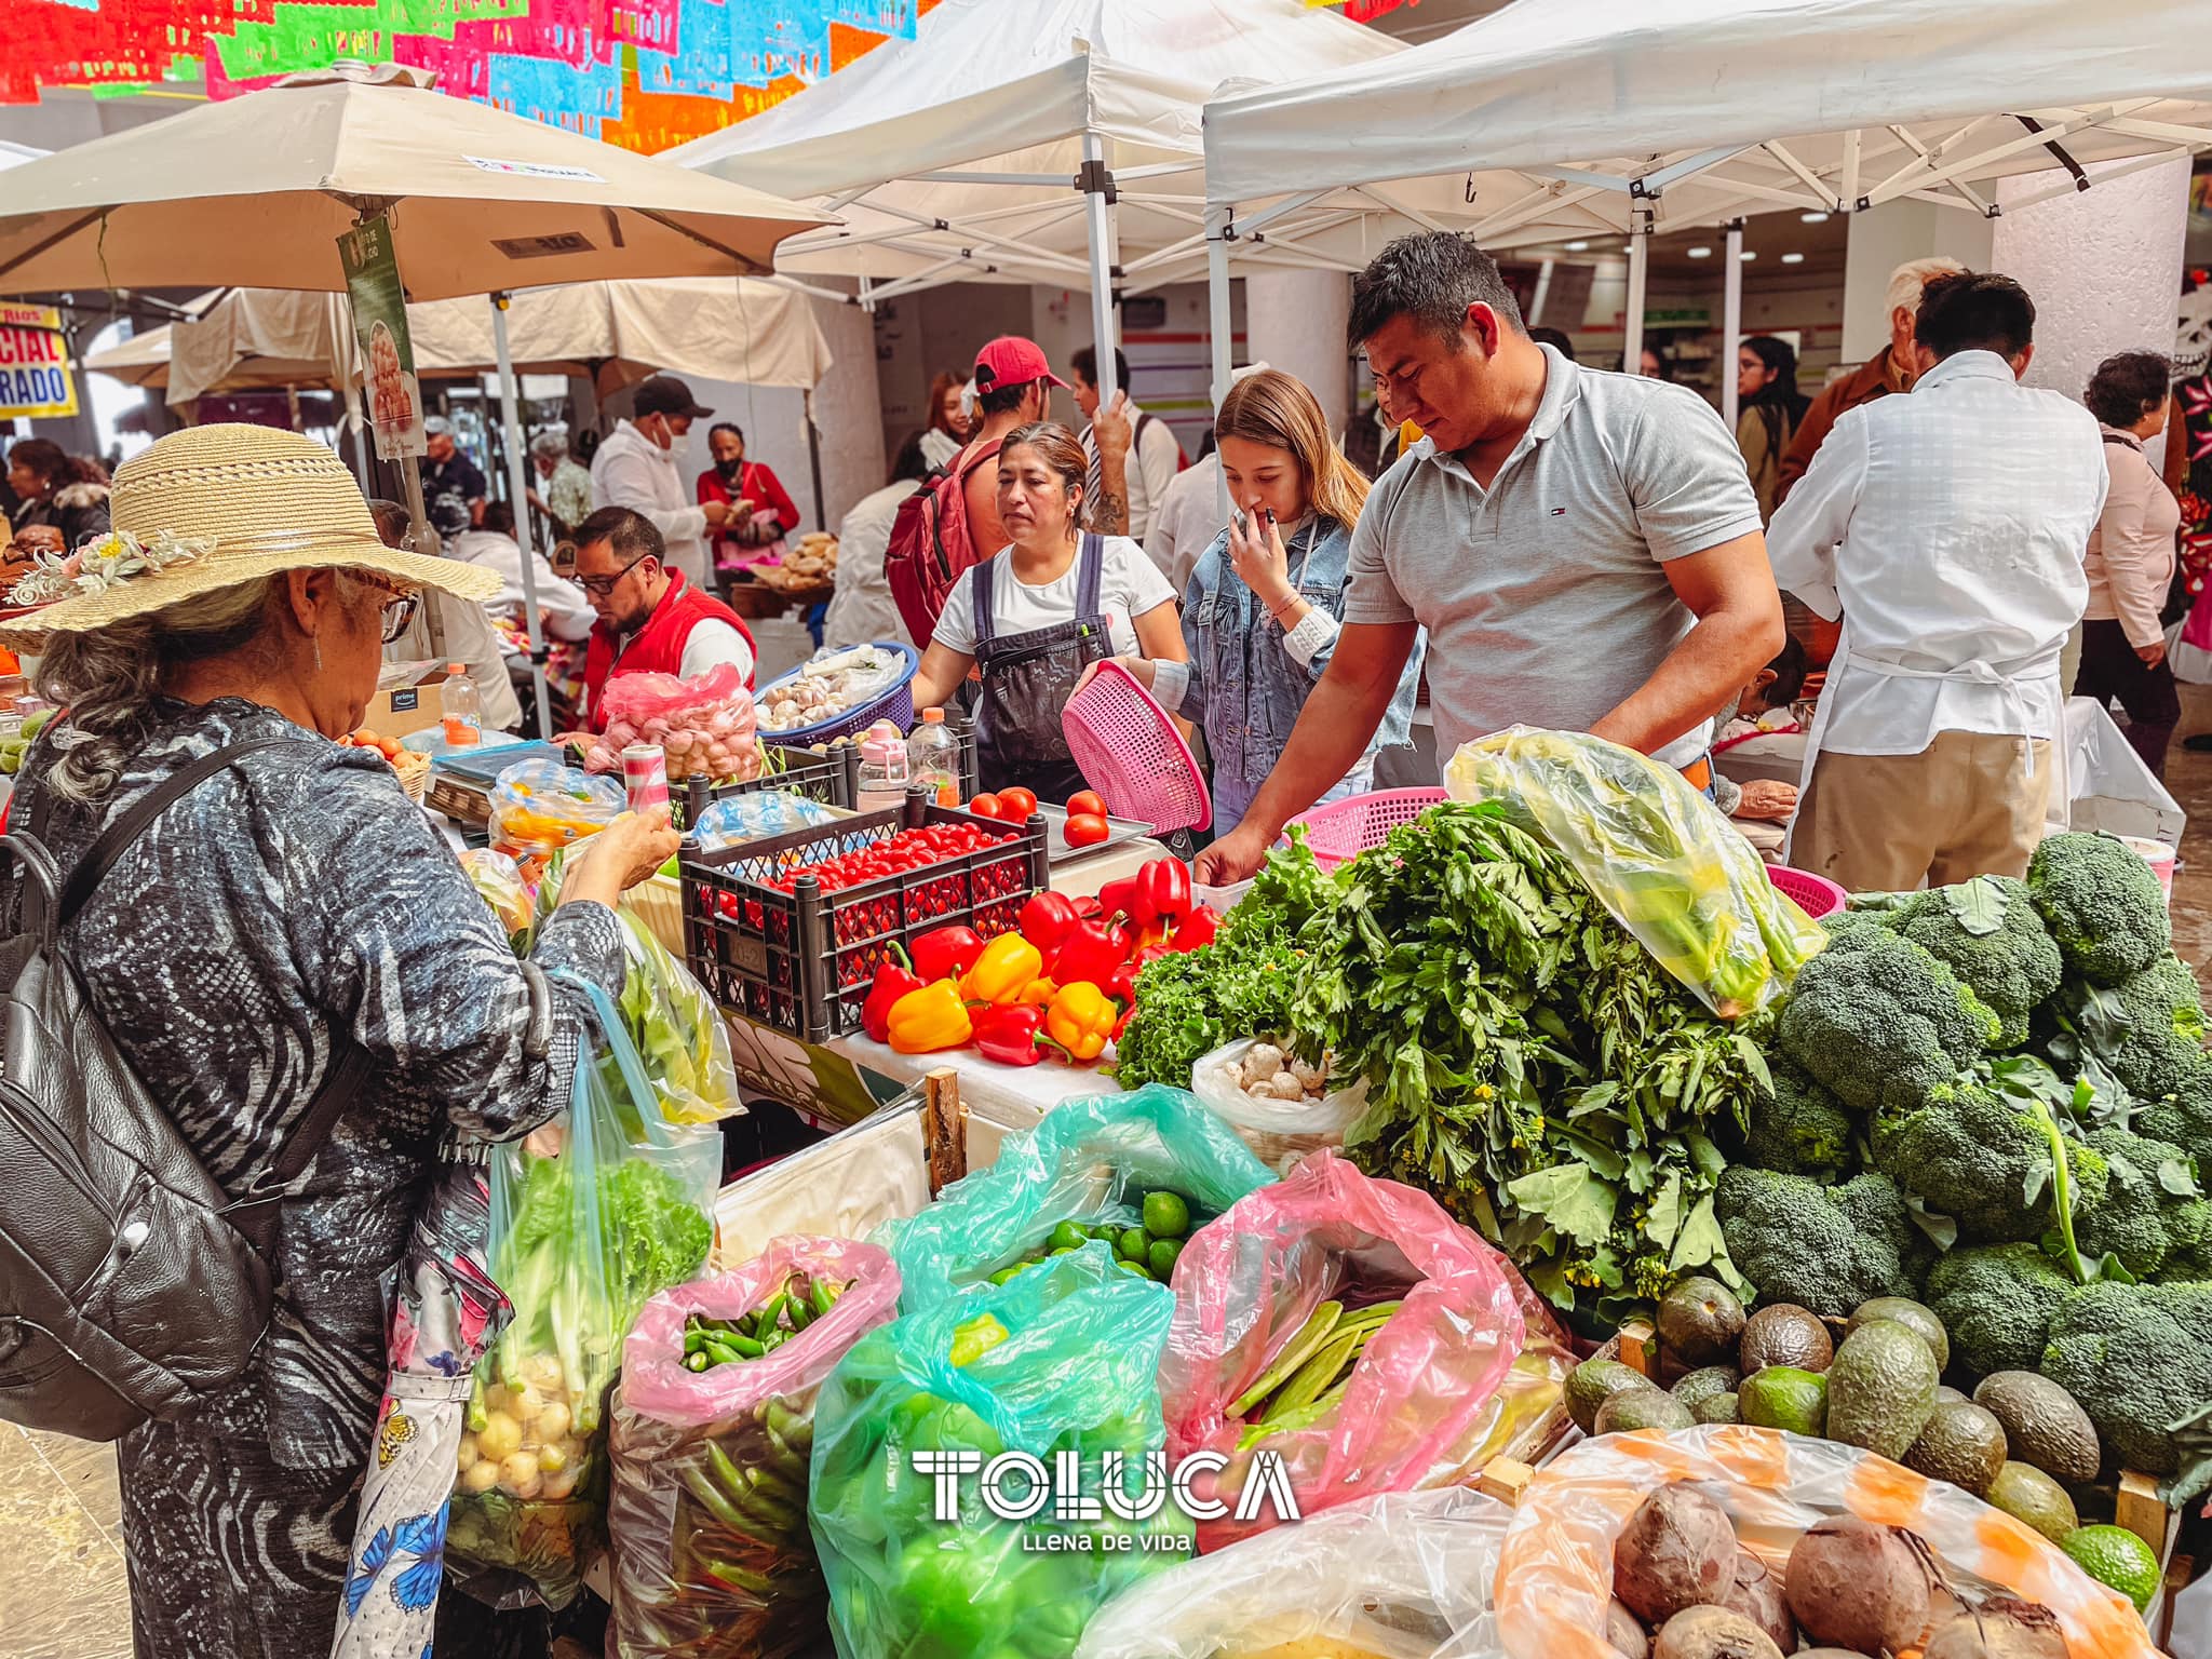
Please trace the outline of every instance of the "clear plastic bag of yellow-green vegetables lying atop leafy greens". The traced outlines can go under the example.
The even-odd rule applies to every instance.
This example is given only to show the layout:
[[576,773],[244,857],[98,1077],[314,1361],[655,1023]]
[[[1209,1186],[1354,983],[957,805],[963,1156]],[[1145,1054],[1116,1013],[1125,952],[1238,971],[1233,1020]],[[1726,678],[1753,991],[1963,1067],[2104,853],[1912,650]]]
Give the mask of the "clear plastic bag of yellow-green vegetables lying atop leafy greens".
[[1681,772],[1586,732],[1513,726],[1460,745],[1453,801],[1495,801],[1564,854],[1659,967],[1723,1020],[1767,1006],[1827,942]]

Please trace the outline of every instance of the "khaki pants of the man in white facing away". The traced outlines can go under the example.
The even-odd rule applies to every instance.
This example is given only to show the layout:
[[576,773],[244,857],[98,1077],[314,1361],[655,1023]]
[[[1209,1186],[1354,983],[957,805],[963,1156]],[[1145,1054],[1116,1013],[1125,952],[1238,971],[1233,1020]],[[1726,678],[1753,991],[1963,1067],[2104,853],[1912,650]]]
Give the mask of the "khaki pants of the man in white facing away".
[[2051,805],[2051,743],[1938,732],[1920,754],[1823,750],[1798,803],[1790,863],[1854,894],[2024,876]]

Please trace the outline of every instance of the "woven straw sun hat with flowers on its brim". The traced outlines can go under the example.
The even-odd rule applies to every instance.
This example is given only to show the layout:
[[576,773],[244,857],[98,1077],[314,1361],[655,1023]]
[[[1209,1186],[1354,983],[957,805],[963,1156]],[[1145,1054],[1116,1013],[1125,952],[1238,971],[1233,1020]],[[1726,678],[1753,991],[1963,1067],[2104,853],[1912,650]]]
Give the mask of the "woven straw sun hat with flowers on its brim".
[[493,571],[385,546],[345,462],[274,427],[161,438],[115,469],[108,520],[106,535],[15,584],[9,602],[35,608],[0,619],[0,639],[35,650],[279,571],[363,571],[478,602],[500,588]]

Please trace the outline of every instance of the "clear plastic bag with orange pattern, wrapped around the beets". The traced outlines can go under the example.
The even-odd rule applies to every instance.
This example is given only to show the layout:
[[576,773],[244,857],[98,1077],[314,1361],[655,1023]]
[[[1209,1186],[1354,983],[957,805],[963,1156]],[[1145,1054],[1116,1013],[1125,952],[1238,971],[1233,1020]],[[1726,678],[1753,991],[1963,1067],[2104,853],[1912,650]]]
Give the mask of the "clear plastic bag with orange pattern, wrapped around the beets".
[[1851,1513],[1927,1540],[1969,1601],[2017,1595],[2051,1608],[2073,1659],[2152,1659],[2141,1617],[2024,1522],[1940,1480],[1834,1440],[1747,1427],[1610,1433],[1537,1471],[1498,1562],[1509,1659],[1615,1659],[1606,1646],[1613,1540],[1659,1486],[1692,1482],[1736,1540],[1785,1571],[1807,1526]]

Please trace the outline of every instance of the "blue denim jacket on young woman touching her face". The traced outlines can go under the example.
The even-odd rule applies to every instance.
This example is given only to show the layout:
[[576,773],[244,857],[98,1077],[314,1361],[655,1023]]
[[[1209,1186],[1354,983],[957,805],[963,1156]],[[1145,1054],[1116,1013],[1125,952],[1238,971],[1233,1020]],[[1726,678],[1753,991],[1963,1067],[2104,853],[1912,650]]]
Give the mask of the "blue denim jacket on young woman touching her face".
[[[1340,622],[1352,529],[1314,518],[1285,538],[1285,551],[1290,577],[1305,602]],[[1214,768],[1214,823],[1228,830],[1243,818],[1259,785],[1283,759],[1298,710],[1329,666],[1334,641],[1314,653],[1312,664],[1301,664],[1283,641],[1283,624],[1265,613],[1230,564],[1230,538],[1223,531],[1199,555],[1183,591],[1183,644],[1190,650],[1190,684],[1175,712],[1206,732]],[[1374,787],[1369,779],[1380,750],[1409,741],[1425,648],[1427,637],[1413,644],[1398,695],[1391,697],[1367,754],[1347,776],[1356,785],[1352,794]]]

